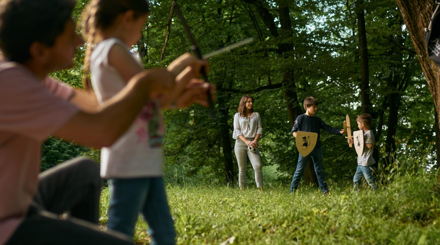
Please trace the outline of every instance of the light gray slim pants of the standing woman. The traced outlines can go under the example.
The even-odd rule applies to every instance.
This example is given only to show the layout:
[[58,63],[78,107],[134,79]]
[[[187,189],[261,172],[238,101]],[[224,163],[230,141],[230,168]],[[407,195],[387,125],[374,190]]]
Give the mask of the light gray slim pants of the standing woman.
[[241,139],[237,139],[237,141],[235,141],[234,152],[238,162],[238,186],[246,186],[247,157],[249,157],[253,171],[255,172],[255,182],[257,183],[257,187],[263,186],[260,149],[257,148],[255,152],[250,152],[248,146]]

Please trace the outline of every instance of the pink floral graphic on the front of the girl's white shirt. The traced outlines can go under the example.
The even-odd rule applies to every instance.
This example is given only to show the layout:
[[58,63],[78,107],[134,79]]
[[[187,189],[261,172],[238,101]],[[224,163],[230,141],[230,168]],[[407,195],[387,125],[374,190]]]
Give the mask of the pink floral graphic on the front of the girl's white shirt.
[[137,131],[138,143],[148,140],[151,148],[161,147],[163,143],[163,123],[160,108],[157,102],[151,101],[143,107],[139,114],[139,120],[146,123],[145,127]]

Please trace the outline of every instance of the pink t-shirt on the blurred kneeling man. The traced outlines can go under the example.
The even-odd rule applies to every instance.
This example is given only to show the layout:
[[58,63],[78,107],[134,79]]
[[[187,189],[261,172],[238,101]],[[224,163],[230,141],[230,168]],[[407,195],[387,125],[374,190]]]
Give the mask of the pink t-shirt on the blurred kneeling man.
[[0,245],[24,219],[37,190],[41,143],[78,108],[72,89],[0,61]]

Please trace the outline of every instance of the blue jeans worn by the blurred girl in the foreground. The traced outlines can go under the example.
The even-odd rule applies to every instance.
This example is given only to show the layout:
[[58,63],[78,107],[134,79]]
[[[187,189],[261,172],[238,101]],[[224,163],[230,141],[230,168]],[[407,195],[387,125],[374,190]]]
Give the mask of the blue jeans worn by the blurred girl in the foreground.
[[107,228],[133,237],[139,212],[148,223],[151,244],[176,244],[162,177],[109,179]]

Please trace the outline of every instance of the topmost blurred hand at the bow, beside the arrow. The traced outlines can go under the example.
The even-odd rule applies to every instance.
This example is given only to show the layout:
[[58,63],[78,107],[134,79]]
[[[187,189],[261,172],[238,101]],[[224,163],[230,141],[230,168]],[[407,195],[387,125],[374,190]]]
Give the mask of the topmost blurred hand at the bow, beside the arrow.
[[199,72],[202,69],[202,66],[205,67],[206,73],[209,72],[208,62],[206,60],[198,59],[190,53],[180,55],[177,59],[173,60],[167,67],[167,70],[171,72],[174,77],[177,77],[177,75],[179,75],[179,73],[181,73],[187,66],[193,67],[194,71],[197,72],[197,76],[195,77],[201,76]]

